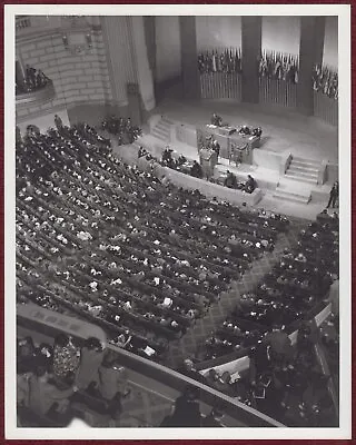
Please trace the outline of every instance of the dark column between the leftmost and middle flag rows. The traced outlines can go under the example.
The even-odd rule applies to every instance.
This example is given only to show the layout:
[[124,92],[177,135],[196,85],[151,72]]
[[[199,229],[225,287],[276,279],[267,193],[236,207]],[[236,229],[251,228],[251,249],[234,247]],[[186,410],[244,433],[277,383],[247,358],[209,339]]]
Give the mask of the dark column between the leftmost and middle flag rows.
[[258,103],[259,77],[258,61],[261,55],[261,27],[259,16],[243,16],[241,47],[243,47],[243,101]]

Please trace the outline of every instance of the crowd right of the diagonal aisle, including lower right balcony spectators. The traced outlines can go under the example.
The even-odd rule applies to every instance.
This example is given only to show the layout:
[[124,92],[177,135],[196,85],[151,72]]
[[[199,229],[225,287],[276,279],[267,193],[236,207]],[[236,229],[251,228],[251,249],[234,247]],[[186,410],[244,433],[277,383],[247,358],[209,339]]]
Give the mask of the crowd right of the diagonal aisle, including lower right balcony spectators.
[[[337,310],[320,333],[310,320],[316,315],[314,308],[327,298],[337,280],[338,217],[322,212],[317,221],[300,231],[295,248],[284,251],[256,290],[241,295],[235,312],[206,340],[198,355],[185,360],[180,372],[253,404],[289,426],[335,425],[327,385],[330,374],[337,375]],[[291,330],[298,329],[295,345],[288,336],[291,326]],[[333,335],[327,330],[330,326]],[[328,375],[317,360],[317,342],[326,349]],[[201,360],[214,363],[226,356],[228,362],[238,352],[250,357],[245,375],[211,368],[202,377],[196,370]]]

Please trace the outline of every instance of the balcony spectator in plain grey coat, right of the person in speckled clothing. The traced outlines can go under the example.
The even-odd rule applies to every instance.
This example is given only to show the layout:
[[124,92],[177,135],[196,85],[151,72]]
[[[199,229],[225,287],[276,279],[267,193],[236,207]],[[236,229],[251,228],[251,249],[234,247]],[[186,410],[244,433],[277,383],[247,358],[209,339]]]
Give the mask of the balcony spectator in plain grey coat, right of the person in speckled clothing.
[[80,365],[76,376],[76,385],[87,389],[90,384],[99,382],[99,366],[102,363],[103,347],[98,338],[89,337],[80,352]]

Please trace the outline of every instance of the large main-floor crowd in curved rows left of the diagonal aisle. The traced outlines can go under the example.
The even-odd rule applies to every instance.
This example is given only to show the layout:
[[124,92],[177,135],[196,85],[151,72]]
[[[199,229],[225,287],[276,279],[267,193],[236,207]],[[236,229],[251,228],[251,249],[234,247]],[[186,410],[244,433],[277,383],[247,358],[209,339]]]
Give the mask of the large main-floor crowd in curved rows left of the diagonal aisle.
[[18,303],[89,319],[159,360],[288,220],[161,184],[88,125],[57,123],[17,138]]

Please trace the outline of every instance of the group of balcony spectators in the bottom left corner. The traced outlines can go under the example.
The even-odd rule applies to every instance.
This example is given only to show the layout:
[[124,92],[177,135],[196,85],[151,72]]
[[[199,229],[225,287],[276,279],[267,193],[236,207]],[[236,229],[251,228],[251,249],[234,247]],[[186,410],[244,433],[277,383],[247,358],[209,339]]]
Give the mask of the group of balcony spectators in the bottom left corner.
[[18,426],[68,426],[73,418],[90,424],[99,417],[109,425],[120,419],[130,392],[127,369],[96,337],[81,344],[65,334],[53,344],[18,338]]

